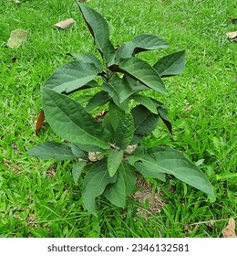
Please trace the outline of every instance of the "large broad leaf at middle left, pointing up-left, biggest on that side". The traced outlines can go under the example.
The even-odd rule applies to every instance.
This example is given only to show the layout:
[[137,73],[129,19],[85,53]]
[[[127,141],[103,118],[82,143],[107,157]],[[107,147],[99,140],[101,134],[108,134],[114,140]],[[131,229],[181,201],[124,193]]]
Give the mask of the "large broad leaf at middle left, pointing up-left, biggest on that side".
[[42,88],[42,103],[46,120],[57,135],[72,143],[109,148],[103,126],[80,103],[45,87]]

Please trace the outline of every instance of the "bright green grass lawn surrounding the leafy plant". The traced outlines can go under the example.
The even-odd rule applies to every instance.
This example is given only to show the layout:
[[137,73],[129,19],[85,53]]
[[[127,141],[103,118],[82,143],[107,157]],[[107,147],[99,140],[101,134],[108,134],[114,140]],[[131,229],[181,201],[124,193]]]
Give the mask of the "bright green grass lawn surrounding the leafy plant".
[[[227,220],[237,219],[236,45],[225,36],[236,30],[228,19],[236,17],[234,1],[92,0],[87,5],[107,19],[114,45],[140,33],[167,40],[170,48],[142,54],[149,63],[186,49],[185,72],[165,80],[169,96],[160,98],[174,136],[161,126],[144,144],[168,144],[200,163],[217,200],[170,179],[153,181],[165,202],[160,214],[131,198],[125,209],[101,198],[98,218],[88,214],[71,164],[38,160],[26,151],[56,138],[50,129],[34,134],[40,86],[68,61],[68,52],[93,52],[92,39],[72,0],[22,0],[20,5],[6,0],[0,6],[0,236],[222,237]],[[53,27],[69,17],[76,26]],[[26,29],[30,39],[21,48],[7,48],[17,28]],[[149,220],[136,217],[139,208]]]

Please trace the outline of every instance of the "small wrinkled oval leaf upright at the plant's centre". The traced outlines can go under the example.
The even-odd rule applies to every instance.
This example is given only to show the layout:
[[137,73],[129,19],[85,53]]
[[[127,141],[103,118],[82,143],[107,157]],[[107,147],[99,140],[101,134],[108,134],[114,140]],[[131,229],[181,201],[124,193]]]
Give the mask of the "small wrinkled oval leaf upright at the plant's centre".
[[115,143],[121,149],[127,148],[131,143],[134,133],[133,117],[130,113],[125,113],[118,123],[117,130],[115,132]]

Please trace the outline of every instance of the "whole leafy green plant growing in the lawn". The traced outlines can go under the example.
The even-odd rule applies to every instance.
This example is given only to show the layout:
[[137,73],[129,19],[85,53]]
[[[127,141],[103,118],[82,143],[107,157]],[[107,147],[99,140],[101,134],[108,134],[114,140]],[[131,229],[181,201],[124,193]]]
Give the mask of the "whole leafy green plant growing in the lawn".
[[[38,144],[28,154],[57,161],[77,160],[72,176],[77,184],[84,174],[84,205],[95,215],[100,195],[125,207],[126,197],[136,184],[136,172],[161,181],[169,174],[215,197],[206,176],[180,152],[141,144],[159,120],[171,133],[165,106],[142,91],[166,94],[161,78],[183,71],[185,52],[175,52],[150,66],[137,54],[168,48],[166,41],[139,35],[116,49],[109,40],[106,20],[87,6],[78,6],[101,59],[90,53],[73,54],[76,60],[56,69],[46,80],[41,90],[46,120],[67,143]],[[88,99],[80,93],[93,88],[98,91]],[[101,106],[106,110],[93,116]]]

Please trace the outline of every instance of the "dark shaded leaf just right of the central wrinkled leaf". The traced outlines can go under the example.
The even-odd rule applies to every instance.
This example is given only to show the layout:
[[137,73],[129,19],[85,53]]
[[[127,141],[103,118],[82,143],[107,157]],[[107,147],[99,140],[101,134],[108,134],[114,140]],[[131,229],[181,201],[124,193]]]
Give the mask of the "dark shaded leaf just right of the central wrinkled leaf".
[[154,131],[157,127],[159,116],[142,105],[133,108],[131,114],[134,119],[134,138],[131,144],[138,144],[143,137]]

